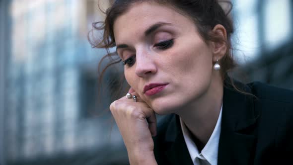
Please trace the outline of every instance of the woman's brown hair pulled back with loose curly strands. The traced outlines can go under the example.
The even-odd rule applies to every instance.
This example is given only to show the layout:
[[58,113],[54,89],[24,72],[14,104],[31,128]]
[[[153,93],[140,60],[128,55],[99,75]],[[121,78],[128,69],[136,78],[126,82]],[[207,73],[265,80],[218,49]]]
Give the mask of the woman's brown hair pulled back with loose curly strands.
[[[192,18],[199,31],[199,34],[206,43],[209,43],[210,41],[225,43],[227,51],[223,58],[219,61],[219,63],[221,66],[220,71],[222,80],[226,80],[227,73],[236,66],[236,63],[234,62],[232,57],[232,46],[230,37],[231,34],[234,32],[234,28],[233,23],[228,16],[232,8],[232,3],[229,0],[220,1],[229,4],[230,9],[226,13],[220,6],[218,0],[115,0],[115,2],[112,2],[110,7],[105,12],[105,20],[94,22],[92,24],[92,30],[103,31],[102,38],[99,40],[94,40],[90,38],[90,35],[88,35],[89,42],[91,43],[93,48],[105,48],[107,50],[107,54],[102,58],[99,64],[100,80],[102,79],[103,74],[107,68],[121,61],[120,58],[117,58],[118,56],[116,52],[111,53],[109,50],[109,48],[113,48],[116,46],[113,32],[113,25],[115,20],[118,16],[125,13],[134,3],[144,1],[155,1],[159,4],[167,4],[174,7],[174,9],[176,9],[181,14],[187,15]],[[221,24],[226,29],[227,40],[223,39],[212,31],[217,24]],[[101,72],[101,63],[107,57],[111,59],[111,63],[103,68]],[[238,90],[232,81],[230,83],[234,86],[236,90]]]

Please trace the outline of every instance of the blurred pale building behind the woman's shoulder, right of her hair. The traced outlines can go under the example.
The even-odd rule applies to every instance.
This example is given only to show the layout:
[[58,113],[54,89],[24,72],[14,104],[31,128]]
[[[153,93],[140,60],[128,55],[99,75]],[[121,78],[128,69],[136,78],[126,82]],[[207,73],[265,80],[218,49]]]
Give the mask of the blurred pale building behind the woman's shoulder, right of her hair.
[[233,17],[237,77],[293,89],[293,1],[235,0]]

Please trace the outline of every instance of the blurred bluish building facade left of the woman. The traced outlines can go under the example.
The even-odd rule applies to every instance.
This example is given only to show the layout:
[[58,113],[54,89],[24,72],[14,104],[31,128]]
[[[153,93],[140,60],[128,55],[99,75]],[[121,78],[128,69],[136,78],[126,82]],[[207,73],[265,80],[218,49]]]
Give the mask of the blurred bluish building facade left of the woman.
[[[10,55],[4,54],[7,57],[6,106],[2,111],[5,162],[8,165],[110,164],[107,155],[124,148],[117,130],[111,134],[109,116],[98,113],[109,102],[95,101],[97,64],[106,52],[93,50],[86,36],[91,28],[88,22],[102,16],[97,12],[97,2],[4,1],[11,22],[11,42],[1,39],[1,43],[11,47]],[[106,79],[113,75],[106,75]],[[92,114],[95,111],[98,116]],[[121,153],[112,162],[121,160],[125,152]]]

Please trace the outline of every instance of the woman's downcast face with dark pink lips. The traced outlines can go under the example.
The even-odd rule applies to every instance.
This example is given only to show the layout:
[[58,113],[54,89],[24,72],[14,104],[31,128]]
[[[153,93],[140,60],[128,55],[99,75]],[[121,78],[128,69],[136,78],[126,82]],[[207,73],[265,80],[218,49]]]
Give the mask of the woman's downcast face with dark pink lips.
[[114,35],[127,82],[157,114],[176,113],[210,87],[213,53],[173,8],[136,3],[116,19]]

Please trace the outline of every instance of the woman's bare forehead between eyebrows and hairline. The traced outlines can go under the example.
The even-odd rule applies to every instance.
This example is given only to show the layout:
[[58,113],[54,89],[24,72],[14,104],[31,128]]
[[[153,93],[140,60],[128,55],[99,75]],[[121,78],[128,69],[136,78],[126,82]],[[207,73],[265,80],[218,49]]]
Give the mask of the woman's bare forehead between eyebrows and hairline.
[[115,40],[124,42],[131,36],[142,36],[148,27],[157,22],[169,23],[178,28],[186,27],[188,23],[194,25],[191,19],[167,4],[137,2],[115,20]]

